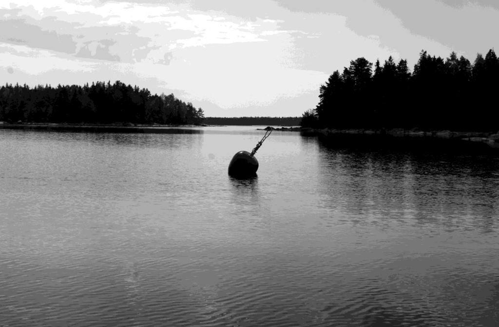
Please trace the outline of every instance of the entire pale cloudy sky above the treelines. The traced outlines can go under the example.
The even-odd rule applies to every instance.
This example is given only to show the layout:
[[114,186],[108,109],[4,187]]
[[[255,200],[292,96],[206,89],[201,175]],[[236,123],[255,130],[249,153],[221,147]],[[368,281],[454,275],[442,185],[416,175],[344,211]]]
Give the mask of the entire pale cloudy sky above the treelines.
[[0,0],[0,82],[121,81],[207,117],[301,116],[335,70],[499,48],[497,0]]

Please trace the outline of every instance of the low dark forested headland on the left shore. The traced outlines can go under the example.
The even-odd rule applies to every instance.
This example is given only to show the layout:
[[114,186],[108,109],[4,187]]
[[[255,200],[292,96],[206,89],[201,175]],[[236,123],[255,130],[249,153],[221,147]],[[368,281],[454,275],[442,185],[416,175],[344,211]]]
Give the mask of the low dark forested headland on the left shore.
[[203,109],[173,94],[152,95],[120,81],[0,88],[0,121],[10,123],[201,124],[203,119]]

